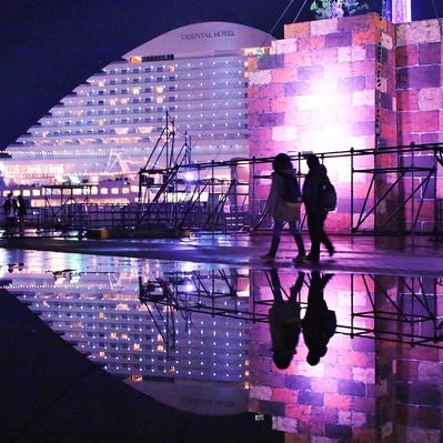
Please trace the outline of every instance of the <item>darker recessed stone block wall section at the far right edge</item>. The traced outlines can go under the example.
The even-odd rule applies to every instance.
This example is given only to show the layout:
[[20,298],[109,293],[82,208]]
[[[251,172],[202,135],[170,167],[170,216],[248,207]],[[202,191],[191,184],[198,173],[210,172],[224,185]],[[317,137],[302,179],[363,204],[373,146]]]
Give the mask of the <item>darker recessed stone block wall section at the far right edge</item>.
[[[397,24],[395,28],[395,64],[399,145],[433,144],[443,142],[443,46],[442,21],[425,20]],[[405,158],[403,164],[419,168],[437,167],[432,153],[416,153]],[[429,182],[427,172],[416,171],[405,177],[404,189],[417,189],[417,199],[423,200],[419,230],[431,231],[435,221],[434,199],[443,198],[442,170],[437,169],[437,183]],[[434,188],[436,195],[433,194]],[[416,208],[416,207],[415,207]],[[412,201],[405,211],[413,213]],[[443,217],[441,214],[440,217]],[[406,226],[410,228],[410,226]]]

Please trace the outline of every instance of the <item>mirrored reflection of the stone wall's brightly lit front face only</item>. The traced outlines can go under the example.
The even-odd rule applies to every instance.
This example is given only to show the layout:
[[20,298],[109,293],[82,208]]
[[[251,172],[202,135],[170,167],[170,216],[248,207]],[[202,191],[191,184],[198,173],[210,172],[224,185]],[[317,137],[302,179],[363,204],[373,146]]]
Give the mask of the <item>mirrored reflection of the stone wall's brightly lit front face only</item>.
[[[308,279],[308,275],[306,275]],[[280,274],[284,289],[294,275]],[[254,291],[259,300],[270,300],[264,275],[256,276]],[[350,319],[350,278],[335,275],[328,283],[325,301],[336,313],[339,323]],[[306,301],[306,286],[302,302]],[[363,285],[355,286],[355,303],[370,310]],[[272,301],[272,299],[271,299]],[[262,309],[269,309],[265,304]],[[302,310],[303,316],[303,310]],[[371,328],[372,320],[361,325]],[[315,366],[306,363],[308,350],[300,335],[296,354],[288,370],[272,362],[269,324],[255,324],[250,331],[250,411],[273,416],[273,426],[286,433],[285,442],[311,442],[312,437],[331,441],[375,441],[375,354],[370,339],[332,336],[328,353]],[[334,440],[335,439],[335,440]],[[324,440],[329,441],[329,440]]]

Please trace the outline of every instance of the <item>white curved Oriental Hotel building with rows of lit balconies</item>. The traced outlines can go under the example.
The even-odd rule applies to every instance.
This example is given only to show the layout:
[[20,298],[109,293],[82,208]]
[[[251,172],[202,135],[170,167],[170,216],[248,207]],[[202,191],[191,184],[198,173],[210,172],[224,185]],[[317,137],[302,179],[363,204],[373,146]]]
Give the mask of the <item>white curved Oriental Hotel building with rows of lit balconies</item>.
[[246,49],[271,40],[242,24],[205,22],[133,49],[8,147],[11,158],[0,165],[6,183],[134,174],[153,167],[149,154],[172,120],[175,150],[187,147],[191,162],[248,157]]

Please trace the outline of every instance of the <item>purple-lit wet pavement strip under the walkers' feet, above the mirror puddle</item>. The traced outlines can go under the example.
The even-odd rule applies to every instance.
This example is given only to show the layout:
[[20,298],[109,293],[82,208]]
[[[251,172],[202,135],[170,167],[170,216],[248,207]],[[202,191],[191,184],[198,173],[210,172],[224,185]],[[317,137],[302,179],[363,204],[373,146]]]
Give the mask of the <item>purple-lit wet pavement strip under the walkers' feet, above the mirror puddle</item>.
[[[244,233],[149,240],[27,236],[3,239],[3,246],[262,268],[270,265],[260,260],[260,255],[268,252],[269,242],[268,234]],[[309,244],[308,239],[305,242]],[[443,241],[430,235],[415,238],[341,235],[333,238],[333,243],[334,256],[330,258],[323,251],[319,264],[304,262],[296,268],[443,275]],[[286,238],[282,241],[275,263],[271,263],[271,266],[294,268],[292,259],[295,255],[293,242]]]

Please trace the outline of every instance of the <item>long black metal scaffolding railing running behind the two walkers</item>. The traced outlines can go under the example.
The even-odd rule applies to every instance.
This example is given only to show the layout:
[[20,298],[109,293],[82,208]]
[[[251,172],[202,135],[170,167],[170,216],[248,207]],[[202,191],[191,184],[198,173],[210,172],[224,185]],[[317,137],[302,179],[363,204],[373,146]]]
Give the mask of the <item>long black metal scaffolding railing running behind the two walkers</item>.
[[[185,151],[181,149],[175,157],[179,163],[140,171],[137,203],[101,204],[88,192],[73,199],[69,193],[72,189],[66,187],[69,194],[61,198],[60,205],[32,209],[27,222],[40,230],[82,231],[160,226],[244,232],[272,228],[266,200],[273,157],[191,164],[184,160]],[[329,220],[338,220],[341,232],[442,238],[442,144],[351,149],[318,155],[335,174],[339,204]],[[290,157],[303,183],[305,153]]]

